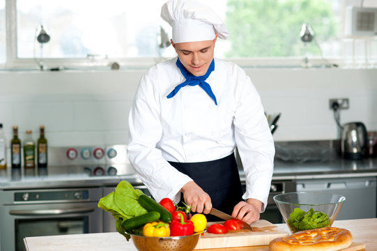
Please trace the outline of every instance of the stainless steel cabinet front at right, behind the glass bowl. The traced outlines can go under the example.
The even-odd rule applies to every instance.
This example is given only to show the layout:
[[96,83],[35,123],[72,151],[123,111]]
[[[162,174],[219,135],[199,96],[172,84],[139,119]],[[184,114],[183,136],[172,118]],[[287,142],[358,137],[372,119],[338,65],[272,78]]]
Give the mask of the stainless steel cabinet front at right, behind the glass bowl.
[[377,178],[316,178],[297,181],[298,192],[332,192],[346,197],[337,220],[376,218]]

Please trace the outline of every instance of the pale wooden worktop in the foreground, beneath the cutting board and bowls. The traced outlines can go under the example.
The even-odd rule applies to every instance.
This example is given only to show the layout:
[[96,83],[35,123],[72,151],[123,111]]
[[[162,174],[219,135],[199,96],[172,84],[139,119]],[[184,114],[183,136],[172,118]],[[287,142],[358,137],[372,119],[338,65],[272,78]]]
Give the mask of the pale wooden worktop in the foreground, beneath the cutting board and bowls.
[[[279,228],[288,232],[285,224],[278,224]],[[360,220],[336,220],[334,227],[341,227],[351,231],[353,242],[364,243],[365,250],[377,250],[377,218]],[[132,241],[116,232],[104,234],[75,234],[66,236],[41,236],[24,238],[26,251],[66,251],[66,250],[101,250],[101,251],[135,251]],[[245,248],[219,248],[217,251],[258,250],[268,251],[268,246],[254,246]]]

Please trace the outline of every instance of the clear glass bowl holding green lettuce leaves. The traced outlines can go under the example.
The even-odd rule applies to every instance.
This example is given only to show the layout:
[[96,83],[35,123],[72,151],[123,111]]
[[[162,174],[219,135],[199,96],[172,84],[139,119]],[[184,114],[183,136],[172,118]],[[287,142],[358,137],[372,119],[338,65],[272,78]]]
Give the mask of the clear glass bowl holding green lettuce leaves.
[[292,233],[331,227],[346,197],[328,192],[287,192],[274,196]]

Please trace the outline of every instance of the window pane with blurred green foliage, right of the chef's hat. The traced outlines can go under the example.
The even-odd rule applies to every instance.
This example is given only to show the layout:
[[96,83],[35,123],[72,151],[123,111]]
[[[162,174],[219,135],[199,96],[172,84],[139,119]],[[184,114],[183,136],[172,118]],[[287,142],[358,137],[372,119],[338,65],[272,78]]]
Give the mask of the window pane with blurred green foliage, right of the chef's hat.
[[[339,24],[325,0],[228,0],[226,25],[231,49],[226,56],[301,56],[300,30],[308,23],[318,43],[335,39]],[[319,55],[315,43],[308,52]]]

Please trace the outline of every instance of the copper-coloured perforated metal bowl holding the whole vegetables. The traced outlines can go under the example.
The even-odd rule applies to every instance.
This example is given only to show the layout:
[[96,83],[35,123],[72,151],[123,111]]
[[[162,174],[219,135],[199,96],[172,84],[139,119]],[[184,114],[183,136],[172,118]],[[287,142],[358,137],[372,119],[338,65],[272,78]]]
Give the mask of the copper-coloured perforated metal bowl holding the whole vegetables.
[[202,232],[189,236],[148,237],[130,234],[139,251],[191,251],[197,246]]

